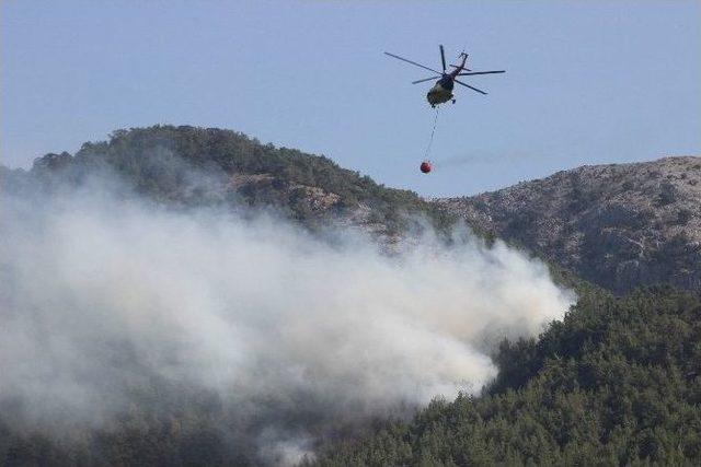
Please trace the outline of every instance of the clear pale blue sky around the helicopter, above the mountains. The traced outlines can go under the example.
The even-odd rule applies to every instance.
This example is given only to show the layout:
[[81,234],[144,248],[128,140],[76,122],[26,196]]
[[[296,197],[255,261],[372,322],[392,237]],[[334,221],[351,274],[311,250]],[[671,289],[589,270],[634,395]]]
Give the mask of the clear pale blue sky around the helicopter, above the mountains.
[[[1,3],[1,160],[118,128],[231,128],[388,186],[469,195],[582,164],[701,154],[701,2]],[[467,47],[434,113],[421,69]]]

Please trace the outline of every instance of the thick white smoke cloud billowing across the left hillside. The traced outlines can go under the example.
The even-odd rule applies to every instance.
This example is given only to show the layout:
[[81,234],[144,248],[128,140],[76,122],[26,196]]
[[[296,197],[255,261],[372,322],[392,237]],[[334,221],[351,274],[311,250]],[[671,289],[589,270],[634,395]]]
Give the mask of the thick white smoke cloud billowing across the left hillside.
[[[331,245],[265,215],[7,195],[0,401],[23,400],[36,423],[100,424],[156,374],[249,420],[262,404],[361,420],[478,392],[496,373],[492,346],[537,335],[572,302],[498,242],[426,236],[390,257],[361,234]],[[264,424],[266,462],[313,448],[303,428]]]

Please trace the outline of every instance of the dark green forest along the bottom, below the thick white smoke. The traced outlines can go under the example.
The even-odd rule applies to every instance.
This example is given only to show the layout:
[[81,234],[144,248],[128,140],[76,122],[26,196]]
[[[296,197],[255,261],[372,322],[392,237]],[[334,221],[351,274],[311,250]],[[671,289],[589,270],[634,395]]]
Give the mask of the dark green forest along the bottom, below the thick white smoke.
[[[701,296],[671,288],[582,297],[539,339],[503,342],[479,397],[325,446],[325,466],[699,465]],[[0,412],[1,465],[255,465],[253,425],[210,393],[146,378],[101,428],[47,434]],[[310,413],[310,423],[321,415]],[[284,420],[285,413],[266,417]],[[323,417],[323,416],[321,416]],[[46,429],[47,427],[44,427]],[[341,433],[344,433],[341,435]],[[50,427],[49,427],[50,433]],[[357,436],[357,435],[356,435]],[[348,441],[349,440],[349,441]]]

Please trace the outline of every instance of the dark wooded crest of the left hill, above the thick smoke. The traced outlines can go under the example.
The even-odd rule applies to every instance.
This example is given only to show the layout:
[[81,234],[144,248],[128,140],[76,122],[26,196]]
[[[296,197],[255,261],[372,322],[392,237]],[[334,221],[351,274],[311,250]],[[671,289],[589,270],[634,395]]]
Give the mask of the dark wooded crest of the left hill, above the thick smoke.
[[36,172],[58,168],[73,180],[97,167],[116,172],[158,201],[265,207],[311,229],[361,206],[368,210],[364,221],[382,224],[380,230],[388,234],[421,230],[421,218],[447,232],[457,219],[413,191],[387,188],[323,155],[262,144],[216,128],[117,130],[108,142],[83,144],[72,159],[67,153],[47,154],[35,162]]

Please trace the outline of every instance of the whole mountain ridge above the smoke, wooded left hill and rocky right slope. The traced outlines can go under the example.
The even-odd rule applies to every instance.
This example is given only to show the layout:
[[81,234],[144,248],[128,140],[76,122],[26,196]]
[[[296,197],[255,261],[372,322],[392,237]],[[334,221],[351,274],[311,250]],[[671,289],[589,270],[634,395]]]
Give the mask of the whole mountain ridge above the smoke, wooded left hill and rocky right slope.
[[487,243],[501,238],[560,268],[556,275],[617,293],[657,282],[701,289],[700,157],[584,165],[430,200],[232,130],[152,126],[117,130],[72,155],[46,154],[30,171],[2,168],[0,180],[50,187],[105,167],[159,202],[263,208],[311,230],[359,227],[390,246],[426,227],[449,237],[462,219]]

